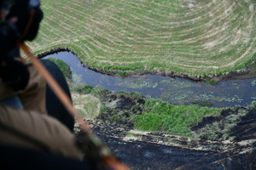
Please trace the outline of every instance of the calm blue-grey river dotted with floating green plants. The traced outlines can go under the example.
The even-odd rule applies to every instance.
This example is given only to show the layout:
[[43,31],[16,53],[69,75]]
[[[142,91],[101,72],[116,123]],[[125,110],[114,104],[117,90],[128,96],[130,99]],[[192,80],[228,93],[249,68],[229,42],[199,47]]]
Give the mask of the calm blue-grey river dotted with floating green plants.
[[217,85],[150,74],[122,78],[91,71],[69,52],[50,54],[44,59],[49,57],[65,61],[72,68],[75,83],[102,86],[110,91],[139,92],[148,98],[162,99],[172,104],[232,107],[250,105],[256,100],[256,78],[224,81]]

